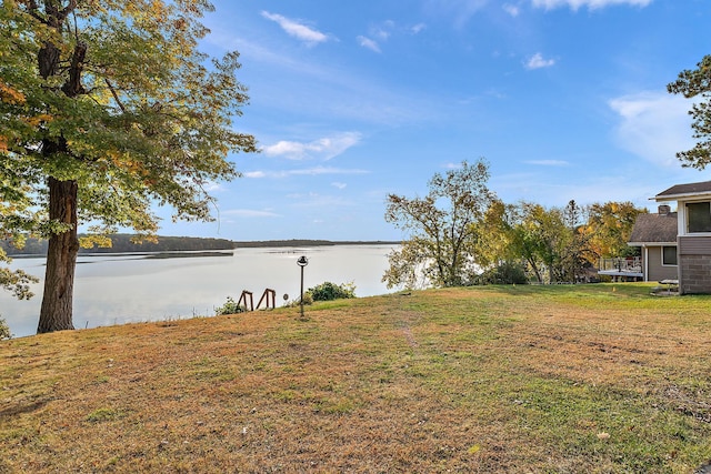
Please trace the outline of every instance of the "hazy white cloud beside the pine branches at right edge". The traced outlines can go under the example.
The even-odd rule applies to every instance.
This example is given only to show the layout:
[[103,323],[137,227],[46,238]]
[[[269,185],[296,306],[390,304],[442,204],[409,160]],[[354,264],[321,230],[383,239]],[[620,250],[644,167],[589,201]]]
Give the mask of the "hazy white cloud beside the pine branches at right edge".
[[621,148],[664,167],[678,167],[677,152],[693,147],[689,100],[640,92],[609,101],[620,115],[615,134]]

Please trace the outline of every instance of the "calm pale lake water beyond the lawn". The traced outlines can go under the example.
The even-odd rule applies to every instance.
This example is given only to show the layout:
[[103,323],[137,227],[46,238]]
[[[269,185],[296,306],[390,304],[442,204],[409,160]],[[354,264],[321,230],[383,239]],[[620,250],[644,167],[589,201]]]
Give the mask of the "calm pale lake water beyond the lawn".
[[[214,309],[242,291],[258,304],[266,289],[283,295],[300,294],[300,255],[307,255],[304,290],[330,281],[354,283],[357,296],[388,293],[380,280],[393,245],[332,245],[314,248],[236,249],[230,256],[154,259],[147,255],[80,255],[74,280],[74,327],[214,315]],[[44,276],[44,259],[14,259],[11,268]],[[0,291],[0,315],[16,337],[34,334],[42,299],[42,282],[34,296],[18,301]]]

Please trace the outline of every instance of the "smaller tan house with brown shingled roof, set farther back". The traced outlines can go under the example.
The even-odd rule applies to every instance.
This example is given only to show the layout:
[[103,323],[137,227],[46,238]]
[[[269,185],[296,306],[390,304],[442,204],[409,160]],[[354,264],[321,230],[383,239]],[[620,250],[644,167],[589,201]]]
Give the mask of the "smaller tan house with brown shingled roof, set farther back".
[[669,205],[660,205],[657,214],[639,214],[634,221],[628,245],[641,248],[640,266],[645,282],[679,280],[678,218],[670,211]]

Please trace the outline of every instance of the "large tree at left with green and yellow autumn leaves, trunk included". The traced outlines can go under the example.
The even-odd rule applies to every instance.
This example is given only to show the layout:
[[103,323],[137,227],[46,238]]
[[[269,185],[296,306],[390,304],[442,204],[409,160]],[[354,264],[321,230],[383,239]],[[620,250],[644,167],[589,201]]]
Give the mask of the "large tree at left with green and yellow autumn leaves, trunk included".
[[[0,231],[49,239],[40,332],[71,329],[77,230],[150,238],[154,205],[209,220],[210,184],[247,102],[237,52],[209,58],[204,0],[34,0],[0,7]],[[32,212],[29,212],[32,210]],[[102,242],[89,239],[87,243]]]

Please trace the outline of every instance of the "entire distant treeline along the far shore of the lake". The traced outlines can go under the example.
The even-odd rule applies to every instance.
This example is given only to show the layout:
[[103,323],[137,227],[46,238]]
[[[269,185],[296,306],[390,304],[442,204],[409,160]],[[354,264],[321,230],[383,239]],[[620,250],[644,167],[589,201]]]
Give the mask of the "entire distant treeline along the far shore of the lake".
[[[250,249],[267,246],[327,246],[327,245],[377,245],[398,244],[400,242],[387,241],[329,241],[329,240],[267,240],[267,241],[244,241],[236,242],[227,239],[207,239],[188,236],[159,236],[157,243],[131,242],[129,234],[111,235],[110,248],[80,249],[79,253],[141,253],[141,252],[188,252],[188,251],[216,251],[232,249]],[[1,241],[2,248],[8,255],[46,255],[46,240],[28,239],[23,249],[16,249],[10,241]]]

